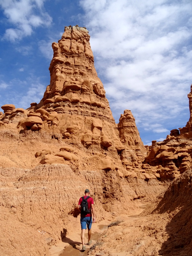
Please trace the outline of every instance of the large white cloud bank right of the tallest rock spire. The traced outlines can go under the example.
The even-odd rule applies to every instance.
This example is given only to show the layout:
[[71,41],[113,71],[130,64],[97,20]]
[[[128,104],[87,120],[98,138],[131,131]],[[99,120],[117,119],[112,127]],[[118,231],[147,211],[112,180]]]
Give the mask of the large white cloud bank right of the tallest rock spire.
[[[169,133],[168,120],[177,128],[181,121],[177,116],[188,109],[191,1],[81,0],[80,4],[116,122],[124,109],[131,109],[139,130],[162,133],[163,138]],[[157,122],[161,126],[155,128]]]

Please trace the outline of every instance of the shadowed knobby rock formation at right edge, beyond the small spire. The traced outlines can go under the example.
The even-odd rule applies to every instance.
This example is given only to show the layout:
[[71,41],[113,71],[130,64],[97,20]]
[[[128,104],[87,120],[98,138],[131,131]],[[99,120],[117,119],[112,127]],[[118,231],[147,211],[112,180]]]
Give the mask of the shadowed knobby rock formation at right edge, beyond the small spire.
[[192,163],[192,85],[188,93],[190,117],[186,126],[173,129],[164,141],[152,141],[145,159],[149,168],[156,168],[163,179],[174,179],[191,168]]

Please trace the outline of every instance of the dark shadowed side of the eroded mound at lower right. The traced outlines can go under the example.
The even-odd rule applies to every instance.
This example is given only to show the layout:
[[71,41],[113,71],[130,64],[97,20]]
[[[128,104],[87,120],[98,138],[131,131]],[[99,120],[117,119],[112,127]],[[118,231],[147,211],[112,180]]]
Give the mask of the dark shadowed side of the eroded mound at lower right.
[[192,170],[174,180],[154,212],[170,220],[165,231],[168,239],[162,244],[161,255],[190,255],[192,248]]

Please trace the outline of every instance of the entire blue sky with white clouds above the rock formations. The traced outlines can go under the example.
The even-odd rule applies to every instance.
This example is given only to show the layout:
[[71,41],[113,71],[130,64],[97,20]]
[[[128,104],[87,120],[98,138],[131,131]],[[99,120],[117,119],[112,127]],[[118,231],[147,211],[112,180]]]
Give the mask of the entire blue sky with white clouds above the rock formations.
[[52,42],[78,24],[118,123],[124,109],[144,144],[189,119],[191,0],[0,0],[0,106],[28,108],[50,82]]

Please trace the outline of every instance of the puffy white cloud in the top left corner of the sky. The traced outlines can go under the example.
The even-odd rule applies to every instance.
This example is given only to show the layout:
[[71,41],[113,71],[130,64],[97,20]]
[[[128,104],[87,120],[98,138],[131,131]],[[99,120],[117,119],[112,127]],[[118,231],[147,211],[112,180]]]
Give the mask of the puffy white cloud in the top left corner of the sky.
[[43,10],[44,0],[0,0],[8,23],[12,28],[5,30],[3,38],[10,41],[30,36],[33,29],[49,26],[52,18]]

